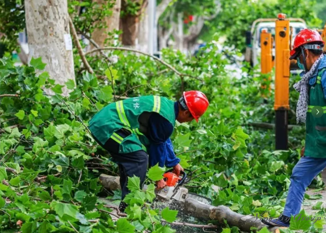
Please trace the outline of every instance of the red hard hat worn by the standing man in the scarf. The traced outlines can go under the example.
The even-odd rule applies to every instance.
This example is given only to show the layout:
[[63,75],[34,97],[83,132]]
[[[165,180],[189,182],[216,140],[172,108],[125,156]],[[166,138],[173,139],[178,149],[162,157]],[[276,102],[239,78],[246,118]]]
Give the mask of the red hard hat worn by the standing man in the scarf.
[[[297,36],[294,38],[293,42],[293,49],[290,52],[290,60],[295,59],[299,53],[297,50],[300,46],[305,45],[307,43],[311,42],[322,42],[325,44],[323,41],[322,36],[319,35],[317,31],[311,30],[311,29],[304,29],[301,32],[298,33]],[[323,49],[320,45],[312,45],[311,48],[307,49]]]

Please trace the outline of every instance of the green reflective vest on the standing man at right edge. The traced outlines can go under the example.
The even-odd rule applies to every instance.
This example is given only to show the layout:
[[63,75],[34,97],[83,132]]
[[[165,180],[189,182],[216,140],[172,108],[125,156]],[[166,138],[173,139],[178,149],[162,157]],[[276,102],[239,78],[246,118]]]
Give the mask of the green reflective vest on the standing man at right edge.
[[[325,70],[324,68],[318,72],[317,81],[313,86],[309,85],[305,148],[307,157],[326,158],[326,99],[321,85],[321,77]],[[315,106],[323,108],[322,117],[313,117],[311,110]]]

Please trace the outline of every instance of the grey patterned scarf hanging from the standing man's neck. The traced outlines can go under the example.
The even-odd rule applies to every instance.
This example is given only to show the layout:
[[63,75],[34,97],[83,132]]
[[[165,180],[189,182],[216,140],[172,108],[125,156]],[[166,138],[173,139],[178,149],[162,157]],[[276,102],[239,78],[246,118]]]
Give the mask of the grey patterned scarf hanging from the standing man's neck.
[[322,54],[318,59],[313,63],[310,71],[305,73],[301,80],[297,82],[296,84],[293,85],[293,88],[297,91],[300,92],[299,96],[299,101],[297,104],[297,112],[296,112],[296,117],[297,117],[297,123],[300,121],[303,123],[306,123],[306,116],[307,116],[307,109],[308,109],[308,82],[312,74],[315,72],[317,65],[324,57],[324,54]]

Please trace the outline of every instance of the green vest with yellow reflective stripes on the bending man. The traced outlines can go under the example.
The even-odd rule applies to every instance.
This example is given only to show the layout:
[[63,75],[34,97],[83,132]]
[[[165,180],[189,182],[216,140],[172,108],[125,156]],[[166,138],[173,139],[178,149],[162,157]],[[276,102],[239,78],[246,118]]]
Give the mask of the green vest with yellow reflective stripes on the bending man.
[[[119,143],[119,153],[146,150],[150,142],[144,133],[146,134],[148,119],[153,112],[167,119],[174,128],[174,102],[165,97],[149,95],[107,105],[89,121],[89,129],[103,145],[109,138]],[[132,134],[122,138],[115,133],[121,128],[128,129]]]

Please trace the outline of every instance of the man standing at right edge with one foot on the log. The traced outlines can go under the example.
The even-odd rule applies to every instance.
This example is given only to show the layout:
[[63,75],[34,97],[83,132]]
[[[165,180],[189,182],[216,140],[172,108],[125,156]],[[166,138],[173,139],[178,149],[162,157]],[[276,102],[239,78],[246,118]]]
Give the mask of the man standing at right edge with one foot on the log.
[[[294,166],[290,177],[287,202],[283,215],[271,221],[262,220],[268,226],[288,227],[291,215],[300,213],[306,188],[326,168],[326,56],[324,41],[317,31],[302,30],[295,38],[290,59],[297,59],[304,70],[301,80],[293,87],[300,92],[296,118],[306,123],[306,145],[301,159]],[[297,219],[297,218],[296,218]]]

